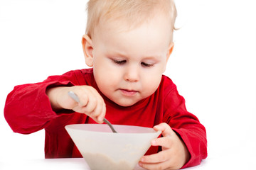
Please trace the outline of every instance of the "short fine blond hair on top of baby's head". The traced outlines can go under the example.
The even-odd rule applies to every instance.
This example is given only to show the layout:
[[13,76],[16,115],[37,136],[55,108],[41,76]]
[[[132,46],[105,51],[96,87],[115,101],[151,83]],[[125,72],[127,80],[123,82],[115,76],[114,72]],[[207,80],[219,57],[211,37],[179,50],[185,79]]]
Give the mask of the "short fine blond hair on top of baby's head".
[[91,37],[100,20],[125,21],[129,27],[139,26],[161,12],[171,21],[171,35],[176,20],[174,0],[90,0],[87,3],[86,34]]

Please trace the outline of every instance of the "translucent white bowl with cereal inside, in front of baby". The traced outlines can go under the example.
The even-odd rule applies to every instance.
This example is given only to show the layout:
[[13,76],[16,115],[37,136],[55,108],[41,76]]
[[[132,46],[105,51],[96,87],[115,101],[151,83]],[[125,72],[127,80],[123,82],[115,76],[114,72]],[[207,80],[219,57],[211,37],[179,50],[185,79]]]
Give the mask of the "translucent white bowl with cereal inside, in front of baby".
[[129,125],[66,125],[65,129],[78,147],[90,169],[132,170],[161,131]]

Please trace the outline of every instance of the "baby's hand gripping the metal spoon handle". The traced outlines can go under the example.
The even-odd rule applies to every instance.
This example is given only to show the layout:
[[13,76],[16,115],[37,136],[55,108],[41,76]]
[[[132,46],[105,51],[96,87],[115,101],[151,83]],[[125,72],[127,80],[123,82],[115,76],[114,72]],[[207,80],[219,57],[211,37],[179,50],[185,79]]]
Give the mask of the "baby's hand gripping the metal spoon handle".
[[[79,103],[68,96],[68,91],[73,91],[78,96]],[[61,86],[49,89],[46,93],[53,110],[70,109],[85,113],[97,123],[103,123],[106,113],[105,102],[92,86]]]

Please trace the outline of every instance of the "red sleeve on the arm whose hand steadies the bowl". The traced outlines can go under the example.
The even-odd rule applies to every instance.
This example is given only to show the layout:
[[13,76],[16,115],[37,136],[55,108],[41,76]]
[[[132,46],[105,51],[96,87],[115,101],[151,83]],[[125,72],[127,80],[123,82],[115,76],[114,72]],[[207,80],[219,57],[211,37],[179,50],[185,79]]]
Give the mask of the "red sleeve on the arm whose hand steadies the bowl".
[[200,164],[207,157],[206,128],[186,110],[185,100],[178,94],[175,84],[172,84],[164,106],[166,123],[181,137],[191,154],[191,159],[182,168]]

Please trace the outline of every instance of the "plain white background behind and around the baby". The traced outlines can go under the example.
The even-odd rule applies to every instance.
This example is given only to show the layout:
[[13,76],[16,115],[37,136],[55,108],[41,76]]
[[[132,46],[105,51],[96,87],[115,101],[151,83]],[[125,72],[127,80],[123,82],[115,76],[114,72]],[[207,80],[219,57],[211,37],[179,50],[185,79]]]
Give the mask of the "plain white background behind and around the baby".
[[[7,94],[18,84],[85,68],[87,1],[0,0],[0,160],[44,158],[44,130],[12,132]],[[165,74],[206,126],[208,159],[255,157],[256,3],[176,0],[174,52]],[[256,157],[255,157],[256,158]],[[208,159],[203,164],[208,164]],[[242,162],[252,167],[252,162]]]

